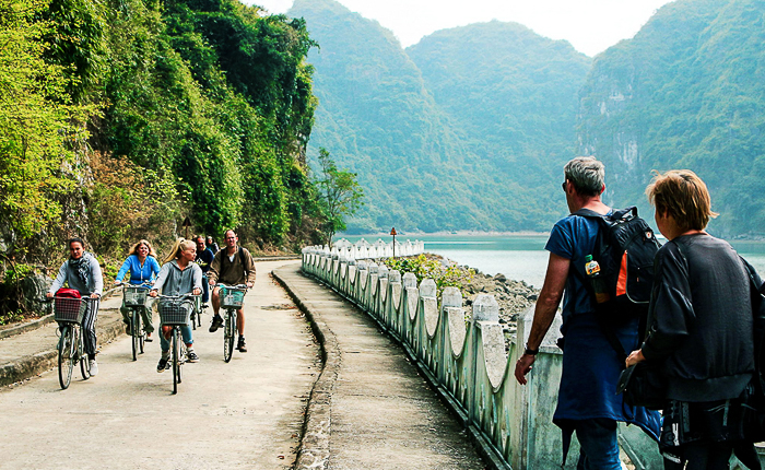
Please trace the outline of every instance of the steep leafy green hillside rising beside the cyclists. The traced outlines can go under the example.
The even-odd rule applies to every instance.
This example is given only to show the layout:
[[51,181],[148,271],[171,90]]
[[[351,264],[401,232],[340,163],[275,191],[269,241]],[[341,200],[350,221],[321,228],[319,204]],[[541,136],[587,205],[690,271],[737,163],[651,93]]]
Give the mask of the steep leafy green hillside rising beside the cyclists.
[[237,0],[0,0],[0,248],[237,227],[317,238],[305,166],[316,98],[302,20]]

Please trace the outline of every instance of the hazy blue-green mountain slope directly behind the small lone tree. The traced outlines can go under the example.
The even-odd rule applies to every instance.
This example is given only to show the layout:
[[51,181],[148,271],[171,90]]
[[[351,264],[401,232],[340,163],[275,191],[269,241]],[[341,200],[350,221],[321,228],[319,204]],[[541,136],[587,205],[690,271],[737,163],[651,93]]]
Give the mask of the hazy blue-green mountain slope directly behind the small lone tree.
[[329,150],[367,195],[351,228],[487,227],[459,142],[390,32],[330,0],[298,0],[289,14],[320,46],[308,57],[319,98],[309,154]]

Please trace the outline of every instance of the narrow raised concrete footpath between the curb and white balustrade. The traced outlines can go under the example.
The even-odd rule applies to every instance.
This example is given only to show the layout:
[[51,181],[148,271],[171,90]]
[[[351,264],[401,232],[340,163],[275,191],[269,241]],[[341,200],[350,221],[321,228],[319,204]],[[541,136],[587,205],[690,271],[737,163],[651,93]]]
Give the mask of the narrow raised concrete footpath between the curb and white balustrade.
[[[317,387],[329,392],[325,409],[318,410],[328,423],[313,428],[309,422],[308,434],[315,435],[301,462],[313,460],[331,470],[485,468],[463,427],[368,315],[297,267],[275,274],[310,310],[326,338],[327,366]],[[328,453],[320,448],[322,439]]]

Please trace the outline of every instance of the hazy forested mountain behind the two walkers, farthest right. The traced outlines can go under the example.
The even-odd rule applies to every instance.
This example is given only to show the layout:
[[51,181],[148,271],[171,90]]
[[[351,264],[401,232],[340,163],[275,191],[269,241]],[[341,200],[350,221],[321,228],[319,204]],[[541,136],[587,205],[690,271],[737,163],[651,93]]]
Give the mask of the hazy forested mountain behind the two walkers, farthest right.
[[578,133],[607,163],[612,201],[645,201],[651,169],[691,168],[720,212],[713,232],[763,234],[764,19],[757,0],[678,0],[598,56]]

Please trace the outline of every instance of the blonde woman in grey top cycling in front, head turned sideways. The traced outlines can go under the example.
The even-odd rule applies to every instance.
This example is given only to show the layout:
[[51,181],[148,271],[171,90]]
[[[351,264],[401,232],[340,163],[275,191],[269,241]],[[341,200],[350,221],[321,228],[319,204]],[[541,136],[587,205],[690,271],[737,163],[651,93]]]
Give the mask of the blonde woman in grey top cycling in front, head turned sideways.
[[[170,255],[162,265],[160,277],[156,279],[156,283],[149,292],[149,295],[156,297],[160,291],[162,291],[163,295],[201,294],[202,269],[193,262],[196,257],[196,244],[190,239],[178,238],[170,250]],[[172,329],[162,327],[162,330],[163,334],[160,334],[162,356],[156,365],[156,372],[160,373],[165,372],[167,360],[170,357],[170,342],[166,336],[170,333]],[[180,327],[180,334],[186,343],[188,362],[198,362],[199,356],[193,350],[191,327],[188,324]]]

